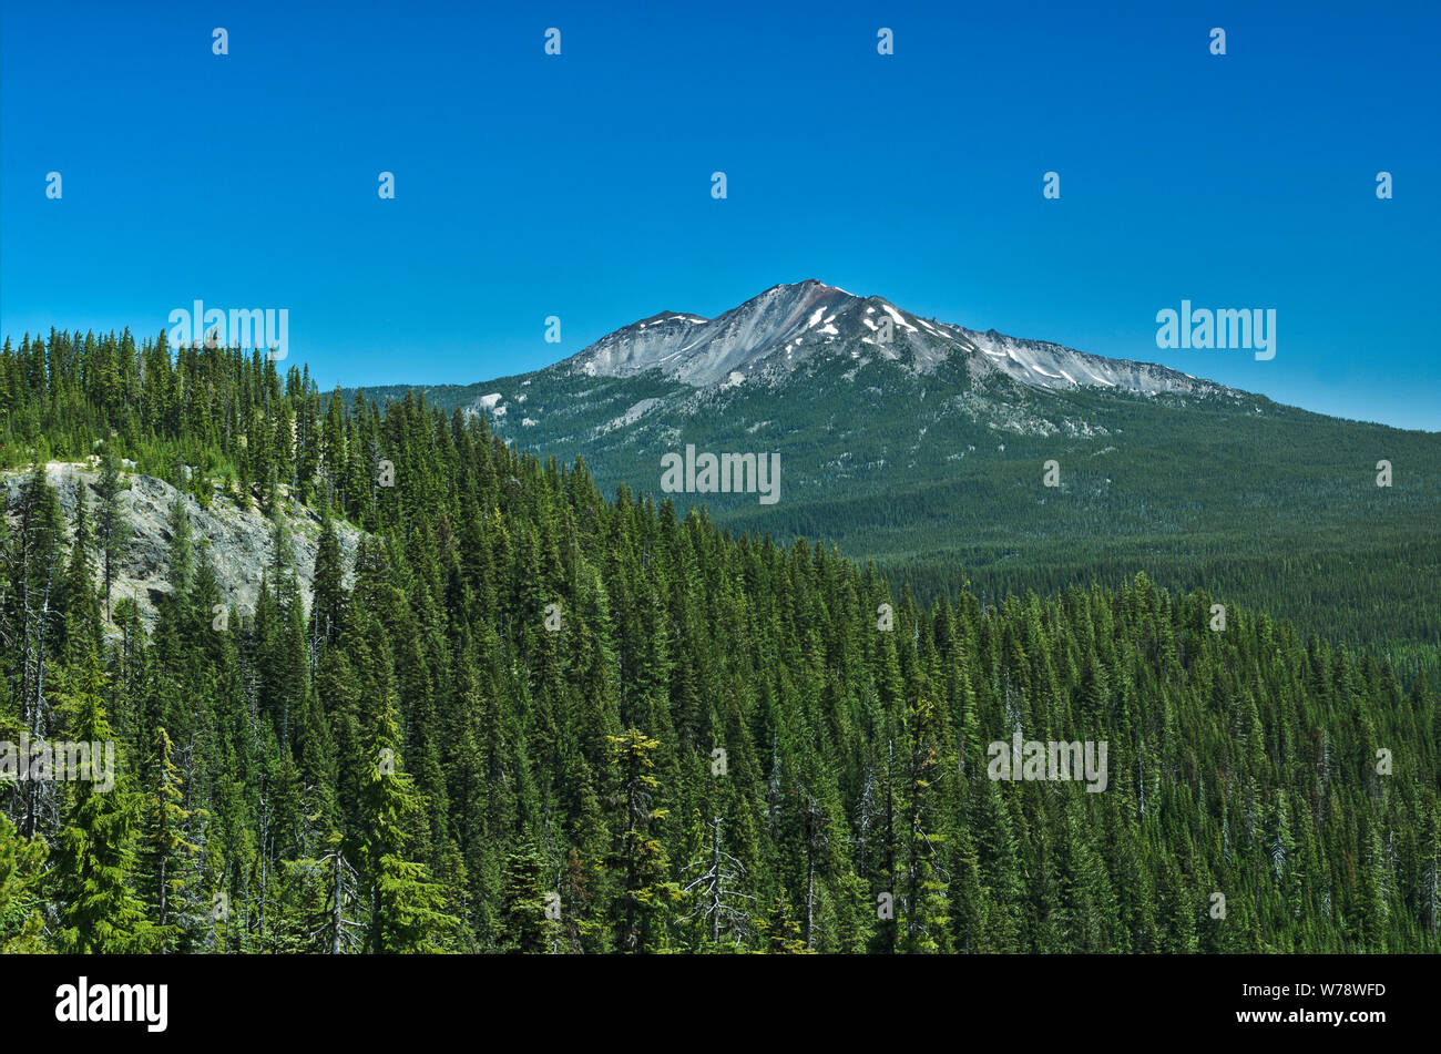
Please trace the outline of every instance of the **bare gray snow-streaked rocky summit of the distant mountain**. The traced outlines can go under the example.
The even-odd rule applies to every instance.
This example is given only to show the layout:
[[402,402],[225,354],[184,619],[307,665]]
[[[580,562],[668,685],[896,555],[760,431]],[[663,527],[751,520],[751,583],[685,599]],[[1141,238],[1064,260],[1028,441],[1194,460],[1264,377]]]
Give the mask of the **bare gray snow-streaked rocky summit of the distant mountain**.
[[695,387],[733,387],[748,380],[774,383],[814,356],[895,360],[916,373],[961,361],[971,376],[1004,373],[1036,389],[1238,395],[1154,363],[929,321],[880,297],[857,297],[816,279],[774,285],[716,318],[670,311],[644,318],[552,369],[598,377],[659,369]]

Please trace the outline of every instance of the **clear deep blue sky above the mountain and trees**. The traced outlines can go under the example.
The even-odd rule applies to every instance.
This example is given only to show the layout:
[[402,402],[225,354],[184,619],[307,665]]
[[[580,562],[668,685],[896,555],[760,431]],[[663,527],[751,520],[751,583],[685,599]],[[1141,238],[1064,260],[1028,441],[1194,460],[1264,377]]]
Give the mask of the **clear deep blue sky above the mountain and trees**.
[[[1441,429],[1437,4],[666,7],[7,0],[0,328],[288,308],[321,386],[468,383],[820,278]],[[1182,298],[1277,357],[1159,350]]]

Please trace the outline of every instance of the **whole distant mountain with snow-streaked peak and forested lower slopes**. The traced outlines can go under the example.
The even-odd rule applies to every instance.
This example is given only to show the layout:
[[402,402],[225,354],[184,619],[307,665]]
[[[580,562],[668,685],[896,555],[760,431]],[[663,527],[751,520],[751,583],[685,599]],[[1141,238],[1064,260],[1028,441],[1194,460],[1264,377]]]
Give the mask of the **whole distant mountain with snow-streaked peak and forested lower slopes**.
[[[834,543],[925,593],[968,583],[994,602],[1144,570],[1343,639],[1441,635],[1427,585],[1441,572],[1441,435],[980,333],[817,281],[715,318],[663,311],[533,373],[418,390],[484,415],[522,449],[584,456],[607,492]],[[687,446],[778,454],[778,501],[667,495],[663,458]],[[1391,487],[1376,485],[1380,461],[1395,467]]]

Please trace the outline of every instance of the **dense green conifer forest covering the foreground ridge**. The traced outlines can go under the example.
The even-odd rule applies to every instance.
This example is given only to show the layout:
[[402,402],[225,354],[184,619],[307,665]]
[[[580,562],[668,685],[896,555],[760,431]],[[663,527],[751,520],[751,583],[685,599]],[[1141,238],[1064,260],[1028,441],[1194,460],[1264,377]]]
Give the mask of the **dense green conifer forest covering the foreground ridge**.
[[[0,415],[4,467],[101,469],[0,517],[0,740],[120,766],[0,783],[3,950],[1438,949],[1441,714],[1370,651],[1144,575],[922,602],[163,337],[6,341]],[[254,612],[179,503],[154,625],[107,596],[121,459],[274,514]],[[990,779],[1017,731],[1105,790]]]

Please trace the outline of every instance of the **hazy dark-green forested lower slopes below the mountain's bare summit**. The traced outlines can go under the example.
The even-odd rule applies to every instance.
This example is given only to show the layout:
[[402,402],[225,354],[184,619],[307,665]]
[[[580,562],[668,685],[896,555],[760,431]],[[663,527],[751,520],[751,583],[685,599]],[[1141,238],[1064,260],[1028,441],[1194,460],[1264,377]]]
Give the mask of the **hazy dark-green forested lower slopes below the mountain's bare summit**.
[[654,490],[657,451],[775,451],[781,501],[706,495],[715,521],[836,544],[918,596],[967,589],[994,605],[1146,572],[1441,683],[1441,433],[1241,392],[1036,390],[965,354],[918,371],[904,340],[896,361],[852,350],[859,360],[837,347],[774,386],[697,390],[659,370],[561,363],[424,393],[486,410],[496,435],[537,456],[584,451],[605,494]]

